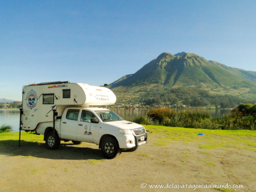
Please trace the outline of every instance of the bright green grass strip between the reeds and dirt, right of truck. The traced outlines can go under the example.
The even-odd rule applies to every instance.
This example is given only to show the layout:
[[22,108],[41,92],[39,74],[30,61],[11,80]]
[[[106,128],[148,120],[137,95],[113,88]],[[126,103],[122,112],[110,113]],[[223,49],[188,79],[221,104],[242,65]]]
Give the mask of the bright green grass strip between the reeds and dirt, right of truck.
[[[168,127],[159,125],[143,125],[154,137],[152,146],[167,145],[170,142],[194,142],[199,148],[212,150],[216,148],[238,148],[256,151],[256,132],[249,130],[205,130]],[[204,133],[205,135],[198,135]],[[159,140],[161,138],[161,140]]]

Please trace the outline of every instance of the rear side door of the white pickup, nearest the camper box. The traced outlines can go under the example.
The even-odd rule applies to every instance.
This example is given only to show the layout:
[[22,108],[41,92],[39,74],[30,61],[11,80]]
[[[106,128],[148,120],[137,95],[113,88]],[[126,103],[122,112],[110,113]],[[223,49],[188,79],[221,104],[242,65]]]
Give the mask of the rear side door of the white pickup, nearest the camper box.
[[80,110],[69,109],[66,117],[63,117],[60,125],[60,133],[63,139],[77,140],[77,126]]

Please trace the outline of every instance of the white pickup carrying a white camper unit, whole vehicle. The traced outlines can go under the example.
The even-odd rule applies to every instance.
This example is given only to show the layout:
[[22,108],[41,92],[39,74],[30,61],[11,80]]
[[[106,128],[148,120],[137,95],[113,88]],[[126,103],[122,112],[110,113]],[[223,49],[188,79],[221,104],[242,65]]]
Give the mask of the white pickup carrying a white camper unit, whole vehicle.
[[106,87],[69,81],[30,84],[23,87],[22,102],[19,146],[22,130],[44,135],[50,150],[57,149],[60,141],[95,143],[109,159],[147,142],[143,126],[111,110],[90,107],[115,104],[115,94]]

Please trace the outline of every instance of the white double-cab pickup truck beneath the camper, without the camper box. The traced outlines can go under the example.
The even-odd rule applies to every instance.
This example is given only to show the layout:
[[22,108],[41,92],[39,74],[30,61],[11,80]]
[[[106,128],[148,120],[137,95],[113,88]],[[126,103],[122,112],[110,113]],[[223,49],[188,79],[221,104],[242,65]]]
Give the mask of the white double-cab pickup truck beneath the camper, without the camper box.
[[99,145],[103,155],[110,159],[121,150],[135,151],[147,140],[143,126],[102,108],[67,108],[55,120],[55,130],[44,127],[45,123],[40,123],[36,132],[44,135],[47,147],[52,150],[58,148],[60,140],[71,140],[74,144],[91,142]]

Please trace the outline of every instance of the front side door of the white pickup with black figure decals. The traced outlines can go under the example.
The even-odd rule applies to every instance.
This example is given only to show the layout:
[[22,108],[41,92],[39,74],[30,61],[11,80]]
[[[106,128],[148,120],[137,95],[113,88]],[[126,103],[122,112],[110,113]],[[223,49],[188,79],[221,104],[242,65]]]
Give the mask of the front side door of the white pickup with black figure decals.
[[77,139],[79,141],[98,142],[99,121],[98,123],[91,122],[92,119],[97,119],[92,112],[82,110],[77,129]]

